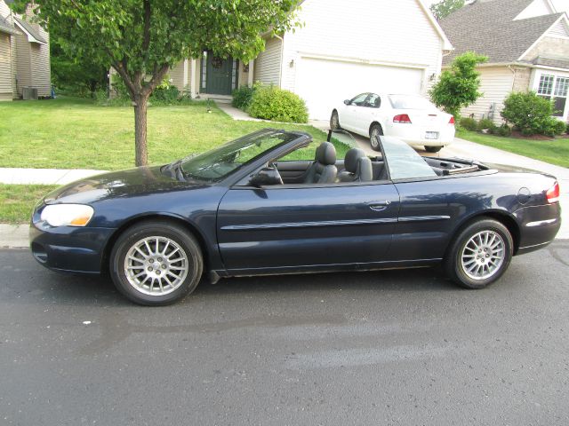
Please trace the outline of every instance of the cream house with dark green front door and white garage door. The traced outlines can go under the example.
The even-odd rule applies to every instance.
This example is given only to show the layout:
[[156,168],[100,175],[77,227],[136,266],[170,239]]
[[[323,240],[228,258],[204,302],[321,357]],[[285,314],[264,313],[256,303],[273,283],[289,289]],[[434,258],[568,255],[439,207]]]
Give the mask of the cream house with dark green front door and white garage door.
[[311,118],[364,91],[426,94],[453,49],[421,0],[305,0],[302,28],[266,39],[257,59],[180,62],[172,83],[192,97],[230,99],[253,82],[275,84],[305,99]]

